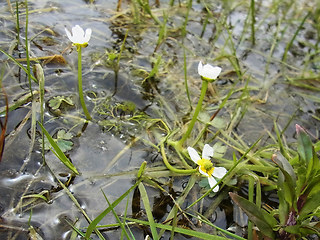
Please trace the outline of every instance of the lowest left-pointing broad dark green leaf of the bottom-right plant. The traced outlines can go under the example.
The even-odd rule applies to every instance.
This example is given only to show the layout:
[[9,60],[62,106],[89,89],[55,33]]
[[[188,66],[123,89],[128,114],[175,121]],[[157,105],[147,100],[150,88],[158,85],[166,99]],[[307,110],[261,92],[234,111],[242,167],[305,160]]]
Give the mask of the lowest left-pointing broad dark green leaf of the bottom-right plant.
[[247,214],[248,218],[259,228],[262,234],[274,239],[273,228],[278,224],[277,220],[249,200],[235,193],[229,193],[232,200]]

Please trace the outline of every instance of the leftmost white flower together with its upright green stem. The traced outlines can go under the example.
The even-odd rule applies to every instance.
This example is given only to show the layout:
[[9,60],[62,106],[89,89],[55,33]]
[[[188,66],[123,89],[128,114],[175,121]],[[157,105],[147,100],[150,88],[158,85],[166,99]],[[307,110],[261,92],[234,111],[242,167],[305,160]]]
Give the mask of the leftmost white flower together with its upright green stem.
[[72,35],[68,29],[65,28],[66,34],[69,40],[72,42],[74,46],[77,47],[78,52],[78,90],[79,90],[79,98],[80,103],[83,109],[83,112],[88,120],[91,120],[90,113],[87,109],[87,106],[83,97],[83,88],[82,88],[82,63],[81,63],[81,49],[88,46],[88,42],[91,38],[92,30],[91,28],[87,28],[86,32],[79,26],[76,25],[72,28]]

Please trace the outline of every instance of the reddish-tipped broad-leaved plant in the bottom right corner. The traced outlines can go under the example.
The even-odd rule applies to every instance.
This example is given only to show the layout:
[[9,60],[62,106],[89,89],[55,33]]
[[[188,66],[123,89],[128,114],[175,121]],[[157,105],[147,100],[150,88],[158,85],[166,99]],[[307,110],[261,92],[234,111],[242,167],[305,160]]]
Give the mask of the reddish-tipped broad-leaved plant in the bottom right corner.
[[[253,202],[230,193],[232,200],[258,227],[259,235],[270,239],[301,239],[319,235],[320,161],[306,131],[296,125],[297,153],[277,153],[272,161],[278,166],[278,209],[266,211]],[[288,158],[284,157],[287,156]]]

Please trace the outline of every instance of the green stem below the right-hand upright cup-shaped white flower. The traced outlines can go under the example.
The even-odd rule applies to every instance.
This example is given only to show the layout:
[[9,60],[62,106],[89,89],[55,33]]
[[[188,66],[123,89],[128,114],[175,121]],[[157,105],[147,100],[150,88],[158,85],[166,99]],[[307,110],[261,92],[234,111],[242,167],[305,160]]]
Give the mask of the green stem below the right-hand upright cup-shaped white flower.
[[187,140],[187,138],[189,137],[193,127],[194,127],[194,124],[196,123],[197,121],[197,117],[199,115],[199,112],[201,110],[201,107],[202,107],[202,102],[203,102],[203,99],[206,95],[206,92],[207,92],[207,88],[208,88],[208,81],[206,80],[202,80],[202,87],[201,87],[201,94],[200,94],[200,98],[199,98],[199,101],[198,101],[198,104],[197,104],[197,107],[194,111],[194,114],[193,114],[193,117],[192,117],[192,120],[188,126],[188,129],[187,131],[185,132],[185,134],[182,136],[182,138],[176,143],[176,146],[175,148],[177,150],[179,149],[182,149],[182,145],[183,143]]

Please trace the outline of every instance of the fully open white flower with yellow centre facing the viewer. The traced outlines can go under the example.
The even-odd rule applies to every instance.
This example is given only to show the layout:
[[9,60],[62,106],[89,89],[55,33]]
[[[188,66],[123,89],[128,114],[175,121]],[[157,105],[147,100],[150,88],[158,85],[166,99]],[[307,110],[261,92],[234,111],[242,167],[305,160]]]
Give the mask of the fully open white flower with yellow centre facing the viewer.
[[[200,158],[198,152],[192,147],[188,147],[188,153],[192,161],[199,165],[199,172],[208,177],[210,187],[217,184],[217,181],[213,177],[222,178],[227,173],[227,170],[224,167],[213,166],[210,161],[210,158],[213,156],[213,148],[208,144],[203,147],[202,158]],[[219,186],[217,185],[213,191],[218,192]]]

